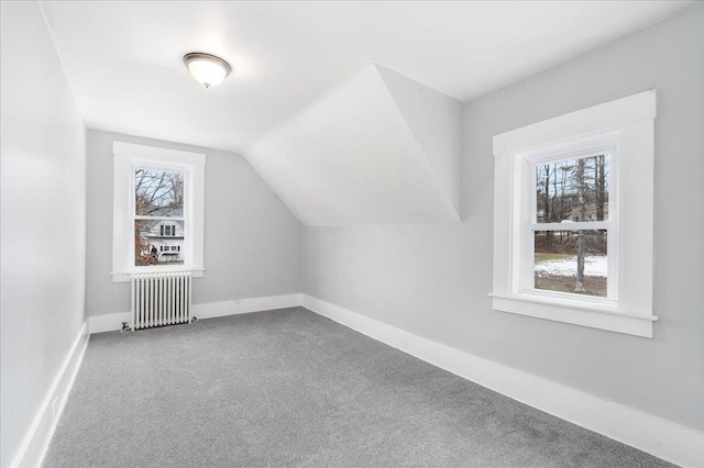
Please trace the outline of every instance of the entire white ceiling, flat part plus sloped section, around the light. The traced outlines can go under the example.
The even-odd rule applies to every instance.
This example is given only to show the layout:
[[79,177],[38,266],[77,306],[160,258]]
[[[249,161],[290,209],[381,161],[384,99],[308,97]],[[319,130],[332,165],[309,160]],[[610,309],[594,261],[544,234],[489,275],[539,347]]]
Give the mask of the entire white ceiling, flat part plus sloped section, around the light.
[[[340,225],[459,222],[461,111],[433,89],[469,100],[696,3],[40,4],[89,129],[241,153],[301,222]],[[202,88],[195,51],[233,75]]]

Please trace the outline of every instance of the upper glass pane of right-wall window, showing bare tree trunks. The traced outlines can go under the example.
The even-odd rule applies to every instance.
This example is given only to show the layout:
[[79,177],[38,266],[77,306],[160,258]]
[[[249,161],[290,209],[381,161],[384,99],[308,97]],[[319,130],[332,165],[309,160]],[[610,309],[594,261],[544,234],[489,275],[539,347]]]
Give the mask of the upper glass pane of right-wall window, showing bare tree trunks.
[[536,167],[538,223],[608,220],[609,155]]

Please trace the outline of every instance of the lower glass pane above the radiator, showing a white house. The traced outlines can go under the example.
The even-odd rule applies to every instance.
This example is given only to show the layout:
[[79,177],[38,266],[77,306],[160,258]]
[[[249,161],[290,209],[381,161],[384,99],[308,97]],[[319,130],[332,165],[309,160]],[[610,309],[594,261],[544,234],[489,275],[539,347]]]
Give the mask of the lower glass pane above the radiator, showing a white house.
[[[172,235],[162,235],[165,225],[173,226]],[[184,221],[135,220],[134,266],[183,265]]]

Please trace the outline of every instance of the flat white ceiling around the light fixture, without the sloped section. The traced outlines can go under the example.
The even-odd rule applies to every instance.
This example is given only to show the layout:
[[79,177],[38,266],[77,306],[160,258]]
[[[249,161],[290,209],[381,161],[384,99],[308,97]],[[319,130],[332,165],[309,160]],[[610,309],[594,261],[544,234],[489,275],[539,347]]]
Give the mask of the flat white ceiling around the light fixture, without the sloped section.
[[[460,100],[695,1],[42,2],[90,129],[243,152],[376,62]],[[234,75],[199,87],[182,56]]]

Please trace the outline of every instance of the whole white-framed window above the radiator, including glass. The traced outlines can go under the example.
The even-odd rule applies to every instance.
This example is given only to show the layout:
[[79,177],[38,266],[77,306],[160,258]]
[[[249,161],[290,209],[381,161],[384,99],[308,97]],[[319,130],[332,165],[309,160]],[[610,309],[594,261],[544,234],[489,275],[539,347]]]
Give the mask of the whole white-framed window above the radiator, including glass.
[[113,281],[148,271],[202,276],[205,155],[121,142],[113,155]]

